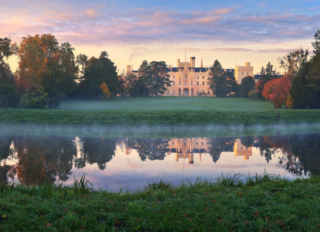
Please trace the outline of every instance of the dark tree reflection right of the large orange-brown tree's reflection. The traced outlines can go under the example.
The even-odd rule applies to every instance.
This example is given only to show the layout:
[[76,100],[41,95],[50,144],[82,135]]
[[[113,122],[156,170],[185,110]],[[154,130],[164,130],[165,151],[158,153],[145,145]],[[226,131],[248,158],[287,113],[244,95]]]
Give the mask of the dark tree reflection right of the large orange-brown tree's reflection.
[[110,138],[81,138],[83,154],[76,159],[76,167],[83,168],[85,163],[97,163],[100,170],[107,167],[107,163],[115,156],[117,139]]

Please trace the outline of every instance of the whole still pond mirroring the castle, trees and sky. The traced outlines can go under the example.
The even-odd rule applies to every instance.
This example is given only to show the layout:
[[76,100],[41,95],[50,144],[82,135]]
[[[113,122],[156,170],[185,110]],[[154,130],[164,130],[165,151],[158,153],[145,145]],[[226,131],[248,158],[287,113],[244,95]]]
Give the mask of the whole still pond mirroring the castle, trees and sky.
[[197,177],[320,174],[320,134],[194,138],[97,138],[0,135],[0,181],[26,185],[74,177],[95,188],[142,189],[158,177],[179,184]]

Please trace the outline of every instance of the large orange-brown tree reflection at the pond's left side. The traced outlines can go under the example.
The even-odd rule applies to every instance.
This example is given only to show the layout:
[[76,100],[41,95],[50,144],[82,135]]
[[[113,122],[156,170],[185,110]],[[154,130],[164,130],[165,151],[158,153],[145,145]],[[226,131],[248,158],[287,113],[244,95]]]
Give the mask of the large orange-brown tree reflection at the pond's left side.
[[54,183],[56,176],[65,181],[71,174],[76,150],[71,139],[62,137],[18,137],[14,141],[18,163],[16,173],[26,185]]

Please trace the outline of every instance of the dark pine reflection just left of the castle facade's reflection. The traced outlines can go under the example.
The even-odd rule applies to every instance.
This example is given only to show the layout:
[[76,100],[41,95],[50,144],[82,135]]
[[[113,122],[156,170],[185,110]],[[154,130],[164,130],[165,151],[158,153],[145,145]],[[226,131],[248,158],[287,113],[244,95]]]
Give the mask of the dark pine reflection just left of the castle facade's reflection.
[[137,152],[142,161],[163,160],[165,149],[169,146],[168,139],[137,139]]

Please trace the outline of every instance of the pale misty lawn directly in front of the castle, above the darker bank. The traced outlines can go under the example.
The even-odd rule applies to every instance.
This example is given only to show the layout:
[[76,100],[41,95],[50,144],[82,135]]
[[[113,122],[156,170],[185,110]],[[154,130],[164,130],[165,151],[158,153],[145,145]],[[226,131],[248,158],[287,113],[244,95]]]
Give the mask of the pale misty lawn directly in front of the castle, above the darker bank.
[[[268,101],[250,98],[212,97],[127,97],[110,101],[63,101],[60,109],[68,110],[277,110]],[[281,111],[286,109],[281,109]]]

